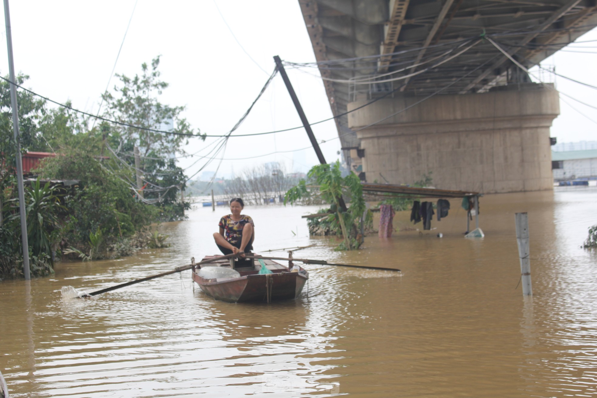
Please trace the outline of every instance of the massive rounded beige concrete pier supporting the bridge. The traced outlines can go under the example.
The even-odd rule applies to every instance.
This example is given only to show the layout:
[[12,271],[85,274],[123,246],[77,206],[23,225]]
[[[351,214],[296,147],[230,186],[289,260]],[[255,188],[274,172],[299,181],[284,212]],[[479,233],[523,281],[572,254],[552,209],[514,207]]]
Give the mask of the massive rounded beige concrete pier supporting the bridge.
[[[349,127],[373,124],[420,99],[401,95],[379,100],[349,113]],[[349,103],[347,109],[367,101]],[[362,163],[369,183],[410,184],[432,172],[438,189],[550,190],[549,128],[558,115],[558,92],[533,83],[482,94],[436,95],[358,131],[361,150],[351,155],[354,163]]]

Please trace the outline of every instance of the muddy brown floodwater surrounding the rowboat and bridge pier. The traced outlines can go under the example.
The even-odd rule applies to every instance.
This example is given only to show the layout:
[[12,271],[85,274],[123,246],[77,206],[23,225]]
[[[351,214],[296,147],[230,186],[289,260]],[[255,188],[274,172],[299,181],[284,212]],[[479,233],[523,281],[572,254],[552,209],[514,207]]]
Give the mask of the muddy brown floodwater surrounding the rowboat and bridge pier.
[[[163,226],[170,248],[0,282],[0,371],[13,397],[595,396],[597,252],[580,245],[596,202],[595,189],[487,195],[485,237],[464,239],[451,200],[437,229],[369,236],[353,252],[307,236],[300,215],[316,208],[246,208],[257,252],[314,244],[296,256],[403,272],[307,265],[308,291],[269,305],[214,301],[193,291],[190,271],[61,298],[62,286],[93,291],[215,254],[226,209],[198,208]],[[516,289],[520,211],[530,220],[527,300]],[[395,226],[407,221],[400,213]]]

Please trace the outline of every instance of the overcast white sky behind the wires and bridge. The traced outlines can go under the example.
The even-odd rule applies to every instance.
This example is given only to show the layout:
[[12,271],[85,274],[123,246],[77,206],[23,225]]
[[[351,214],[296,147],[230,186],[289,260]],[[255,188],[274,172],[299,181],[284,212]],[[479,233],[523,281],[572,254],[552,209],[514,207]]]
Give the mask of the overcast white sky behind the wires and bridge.
[[[216,0],[227,23],[245,50],[270,72],[273,55],[289,61],[315,61],[297,0]],[[30,75],[26,87],[57,101],[71,100],[73,107],[97,112],[100,94],[106,88],[110,71],[121,45],[135,0],[41,1],[12,0],[14,63],[16,70]],[[2,24],[3,25],[3,24]],[[2,30],[0,73],[8,74],[5,34]],[[597,31],[579,41],[597,39]],[[597,47],[597,42],[574,47]],[[597,85],[597,50],[560,52],[544,61],[555,64],[562,75]],[[235,125],[259,93],[267,74],[242,51],[220,17],[213,0],[152,1],[139,0],[116,73],[134,75],[140,64],[161,55],[160,70],[170,87],[161,101],[172,106],[185,105],[184,116],[192,127],[208,134],[223,134]],[[310,122],[331,117],[322,82],[304,73],[288,72]],[[110,87],[117,82],[112,79]],[[596,91],[576,83],[556,79],[558,90],[597,106]],[[569,103],[597,122],[597,110]],[[271,131],[300,125],[296,110],[279,76],[235,134]],[[337,137],[333,121],[313,127],[319,140]],[[597,124],[561,103],[561,115],[552,127],[558,142],[597,140]],[[187,152],[196,152],[217,138],[205,142],[190,141]],[[224,158],[246,158],[277,151],[309,146],[304,129],[263,135],[231,138]],[[338,159],[339,140],[322,144],[328,162]],[[224,161],[219,175],[239,174],[244,168],[264,162],[284,162],[293,167],[317,163],[312,149],[297,155],[278,153],[263,158]],[[182,167],[196,158],[183,159]],[[187,171],[193,174],[202,161]],[[215,170],[215,164],[207,170]],[[201,173],[200,173],[201,174]],[[200,175],[199,174],[199,175]]]

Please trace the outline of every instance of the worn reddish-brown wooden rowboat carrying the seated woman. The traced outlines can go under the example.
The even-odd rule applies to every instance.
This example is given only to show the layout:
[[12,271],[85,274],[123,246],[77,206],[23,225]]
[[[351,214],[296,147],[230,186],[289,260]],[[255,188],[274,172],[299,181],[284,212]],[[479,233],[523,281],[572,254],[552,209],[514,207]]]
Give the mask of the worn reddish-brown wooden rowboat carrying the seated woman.
[[[217,257],[221,256],[207,256],[202,261]],[[226,258],[205,264],[202,267],[193,267],[191,274],[193,281],[197,282],[205,294],[228,303],[270,303],[276,300],[292,300],[301,294],[305,282],[309,279],[309,273],[296,264],[291,270],[275,261],[261,260],[272,273],[260,274],[261,266],[259,261],[253,261],[254,267],[235,269],[240,274],[238,277],[206,279],[199,275],[202,267],[203,269],[221,267],[232,270],[230,261]]]

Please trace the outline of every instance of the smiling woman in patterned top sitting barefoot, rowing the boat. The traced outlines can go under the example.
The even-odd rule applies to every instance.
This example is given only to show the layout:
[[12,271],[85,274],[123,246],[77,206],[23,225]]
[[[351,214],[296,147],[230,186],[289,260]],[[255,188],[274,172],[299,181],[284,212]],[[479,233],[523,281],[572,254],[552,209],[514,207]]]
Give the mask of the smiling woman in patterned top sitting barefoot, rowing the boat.
[[[253,218],[241,214],[245,203],[241,198],[230,200],[230,213],[220,219],[220,232],[214,233],[216,245],[223,254],[236,254],[239,251],[250,252],[255,239]],[[245,257],[241,254],[241,257]]]

